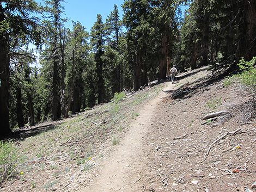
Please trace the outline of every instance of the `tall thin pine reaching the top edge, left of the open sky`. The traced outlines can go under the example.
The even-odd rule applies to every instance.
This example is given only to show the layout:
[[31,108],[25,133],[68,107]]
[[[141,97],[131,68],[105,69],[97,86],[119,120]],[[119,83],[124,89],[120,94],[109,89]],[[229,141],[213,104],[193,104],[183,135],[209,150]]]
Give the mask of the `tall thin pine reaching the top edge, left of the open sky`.
[[57,120],[65,115],[65,29],[62,18],[64,7],[61,5],[63,0],[45,1],[46,14],[45,27],[45,60],[46,65],[52,65],[52,119]]

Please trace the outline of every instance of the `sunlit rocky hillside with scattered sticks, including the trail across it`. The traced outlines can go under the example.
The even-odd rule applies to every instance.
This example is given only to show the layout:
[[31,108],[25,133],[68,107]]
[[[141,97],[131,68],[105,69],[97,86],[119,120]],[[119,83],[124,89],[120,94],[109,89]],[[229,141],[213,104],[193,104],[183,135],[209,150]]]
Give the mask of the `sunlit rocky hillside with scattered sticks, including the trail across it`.
[[255,103],[246,92],[203,67],[125,102],[150,91],[150,100],[115,109],[126,117],[118,125],[102,105],[34,128],[16,143],[32,154],[27,169],[0,191],[256,191]]

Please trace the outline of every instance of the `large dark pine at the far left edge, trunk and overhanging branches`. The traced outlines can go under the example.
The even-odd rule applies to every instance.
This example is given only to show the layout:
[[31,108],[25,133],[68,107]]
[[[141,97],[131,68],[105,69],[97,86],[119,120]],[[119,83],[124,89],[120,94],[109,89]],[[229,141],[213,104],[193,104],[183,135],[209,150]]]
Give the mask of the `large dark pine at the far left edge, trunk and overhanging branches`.
[[[1,135],[11,133],[9,125],[9,67],[11,51],[35,41],[40,44],[38,21],[31,13],[38,10],[33,0],[0,2],[0,121]],[[14,53],[13,52],[13,53]]]

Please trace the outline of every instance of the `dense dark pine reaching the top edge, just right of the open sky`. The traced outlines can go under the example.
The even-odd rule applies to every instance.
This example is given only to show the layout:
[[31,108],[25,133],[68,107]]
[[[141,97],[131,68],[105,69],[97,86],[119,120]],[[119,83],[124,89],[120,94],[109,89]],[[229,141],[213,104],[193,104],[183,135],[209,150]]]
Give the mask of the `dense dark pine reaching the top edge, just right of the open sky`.
[[137,91],[141,85],[145,85],[148,82],[148,60],[143,57],[149,53],[147,52],[147,44],[150,43],[151,35],[154,31],[154,28],[150,26],[150,22],[153,20],[153,15],[150,10],[150,1],[125,1],[123,9],[123,22],[127,29],[127,54],[130,63],[134,67],[133,89]]

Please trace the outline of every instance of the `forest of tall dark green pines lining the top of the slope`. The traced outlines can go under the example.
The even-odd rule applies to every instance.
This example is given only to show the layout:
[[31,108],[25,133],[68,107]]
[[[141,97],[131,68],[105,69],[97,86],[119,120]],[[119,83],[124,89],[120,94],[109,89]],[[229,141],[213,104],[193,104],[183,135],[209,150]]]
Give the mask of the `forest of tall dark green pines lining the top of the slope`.
[[256,56],[255,1],[125,0],[89,33],[65,27],[64,0],[44,2],[0,1],[1,137],[166,79],[174,64],[232,72]]

